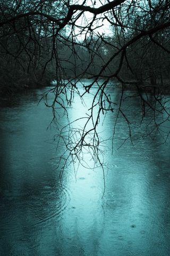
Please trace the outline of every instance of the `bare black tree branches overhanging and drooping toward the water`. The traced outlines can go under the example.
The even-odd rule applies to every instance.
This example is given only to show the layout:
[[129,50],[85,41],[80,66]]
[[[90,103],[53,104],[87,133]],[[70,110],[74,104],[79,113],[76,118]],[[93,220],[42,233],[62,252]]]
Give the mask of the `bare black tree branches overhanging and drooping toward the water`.
[[[57,119],[57,107],[67,113],[66,108],[71,106],[75,93],[83,101],[84,95],[97,85],[90,113],[81,117],[86,120],[83,128],[72,127],[77,122],[75,120],[68,121],[68,125],[61,129],[60,138],[67,152],[59,161],[63,162],[61,175],[69,157],[73,162],[81,162],[86,148],[95,163],[103,167],[98,154],[98,124],[101,116],[115,113],[115,102],[107,93],[107,86],[113,79],[122,88],[113,136],[121,115],[128,124],[128,138],[131,139],[131,124],[122,110],[127,84],[138,92],[142,118],[148,108],[153,111],[157,131],[162,122],[169,120],[169,111],[163,99],[167,90],[165,80],[169,79],[169,5],[168,0],[114,0],[102,3],[84,0],[80,4],[70,0],[1,0],[1,52],[5,51],[6,56],[15,59],[21,67],[27,59],[31,72],[38,66],[43,67],[43,73],[48,65],[55,67],[56,87],[50,90],[55,97],[52,104],[47,103],[53,109],[53,121]],[[108,26],[106,22],[113,28],[109,36],[101,30]],[[15,38],[18,38],[18,49],[13,50],[10,47]],[[6,40],[9,47],[3,43]],[[165,61],[157,63],[160,59]],[[84,77],[90,79],[82,92],[77,85]],[[150,91],[154,97],[152,101],[148,97]],[[166,113],[165,119],[158,122],[157,112]],[[72,139],[67,140],[68,137]]]

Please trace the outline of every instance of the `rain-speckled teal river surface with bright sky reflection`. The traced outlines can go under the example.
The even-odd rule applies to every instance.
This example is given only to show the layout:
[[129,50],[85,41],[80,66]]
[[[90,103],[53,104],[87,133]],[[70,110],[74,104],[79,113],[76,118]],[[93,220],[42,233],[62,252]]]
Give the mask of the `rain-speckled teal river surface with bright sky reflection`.
[[[137,100],[130,102],[134,144],[120,147],[128,131],[120,118],[113,155],[105,154],[102,198],[103,171],[92,169],[88,154],[91,169],[80,166],[75,179],[70,165],[60,182],[55,157],[64,149],[56,153],[55,126],[46,129],[52,111],[43,102],[37,106],[41,92],[1,109],[0,255],[169,255],[169,146],[161,137],[142,137]],[[74,101],[71,118],[85,111]],[[103,136],[113,131],[112,118],[106,117]]]

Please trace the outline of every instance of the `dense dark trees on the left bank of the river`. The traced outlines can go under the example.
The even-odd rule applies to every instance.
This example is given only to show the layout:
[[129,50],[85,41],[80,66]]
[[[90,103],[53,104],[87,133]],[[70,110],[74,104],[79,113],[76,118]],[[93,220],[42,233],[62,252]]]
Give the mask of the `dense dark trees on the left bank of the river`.
[[[49,1],[48,1],[49,2]],[[1,1],[1,21],[35,9],[33,1]],[[40,6],[42,9],[43,6]],[[50,9],[50,4],[45,6]],[[47,10],[48,11],[48,10]],[[21,17],[0,28],[0,90],[12,94],[27,87],[48,85],[53,77],[49,29],[35,17]]]

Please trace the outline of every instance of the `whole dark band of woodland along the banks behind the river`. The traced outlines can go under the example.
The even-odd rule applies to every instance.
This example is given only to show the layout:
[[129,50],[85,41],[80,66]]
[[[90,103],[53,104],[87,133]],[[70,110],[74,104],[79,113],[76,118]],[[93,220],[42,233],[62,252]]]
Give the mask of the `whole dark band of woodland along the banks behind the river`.
[[[92,27],[94,21],[76,25],[80,13],[69,20],[70,1],[1,0],[1,95],[84,77],[165,89],[170,78],[168,1],[120,2],[105,15],[112,32],[104,35]],[[66,19],[67,25],[61,25]]]

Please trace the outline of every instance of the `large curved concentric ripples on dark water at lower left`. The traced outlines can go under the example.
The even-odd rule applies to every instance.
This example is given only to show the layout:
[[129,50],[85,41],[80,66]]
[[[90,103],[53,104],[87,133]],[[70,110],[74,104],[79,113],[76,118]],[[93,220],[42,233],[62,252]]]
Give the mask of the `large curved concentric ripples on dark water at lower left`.
[[69,202],[70,191],[60,182],[25,191],[5,191],[0,205],[1,229],[15,233],[19,227],[11,223],[17,223],[18,218],[30,222],[31,226],[56,220],[56,217],[59,220]]

